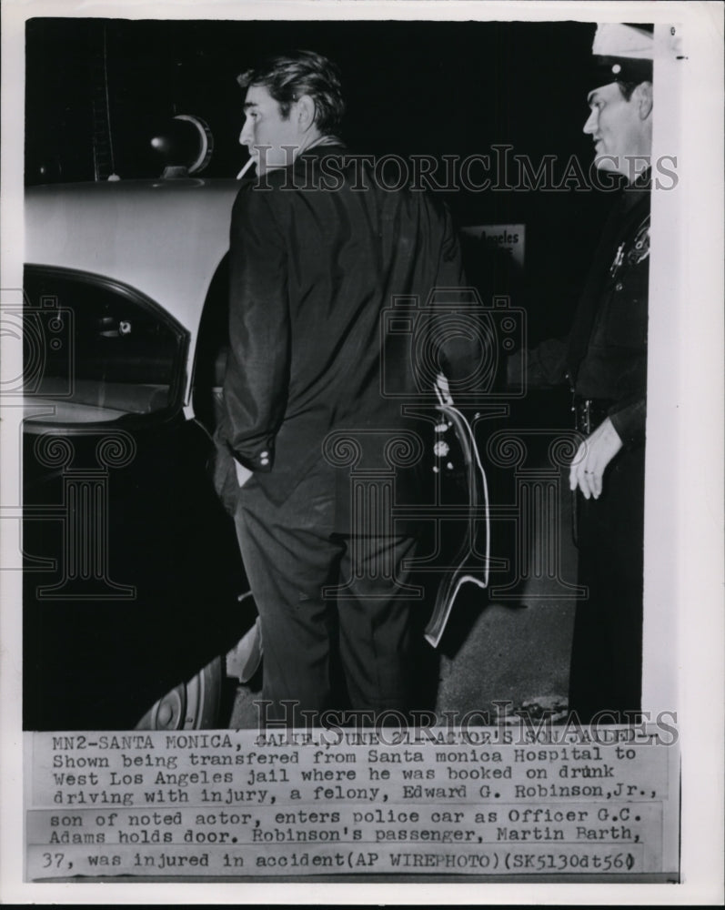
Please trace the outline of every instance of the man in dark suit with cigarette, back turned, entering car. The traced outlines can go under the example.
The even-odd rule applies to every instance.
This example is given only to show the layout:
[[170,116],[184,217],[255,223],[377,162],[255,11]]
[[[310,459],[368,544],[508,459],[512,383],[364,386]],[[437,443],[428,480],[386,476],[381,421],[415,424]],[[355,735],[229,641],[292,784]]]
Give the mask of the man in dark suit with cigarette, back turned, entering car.
[[[363,485],[364,496],[414,494],[419,435],[382,374],[408,399],[419,376],[409,353],[393,356],[382,314],[396,295],[425,301],[434,288],[460,287],[458,241],[444,207],[378,186],[346,156],[335,136],[337,68],[324,57],[276,57],[240,80],[240,141],[257,182],[241,188],[232,214],[218,435],[234,457],[237,536],[261,620],[262,720],[302,723],[345,706],[405,711],[417,527],[392,521],[387,494],[373,507],[351,504],[351,471],[379,480],[402,467],[394,486]],[[454,384],[476,372],[474,340],[437,350]],[[343,682],[333,691],[337,661]]]

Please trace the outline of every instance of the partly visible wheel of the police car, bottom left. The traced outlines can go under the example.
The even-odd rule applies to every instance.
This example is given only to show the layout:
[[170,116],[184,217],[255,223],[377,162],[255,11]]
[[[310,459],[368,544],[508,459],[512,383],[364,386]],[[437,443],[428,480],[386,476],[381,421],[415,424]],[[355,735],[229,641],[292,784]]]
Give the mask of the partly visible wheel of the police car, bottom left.
[[136,730],[213,730],[219,723],[224,662],[215,657],[144,714]]

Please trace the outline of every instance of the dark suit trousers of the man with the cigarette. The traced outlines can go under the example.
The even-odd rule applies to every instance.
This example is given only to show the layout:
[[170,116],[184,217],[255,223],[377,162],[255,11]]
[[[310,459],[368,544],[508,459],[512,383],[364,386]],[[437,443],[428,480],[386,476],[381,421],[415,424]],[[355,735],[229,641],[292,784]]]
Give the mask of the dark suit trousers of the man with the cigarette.
[[411,617],[420,601],[404,562],[416,538],[336,532],[330,480],[328,470],[309,471],[281,505],[256,475],[238,490],[237,538],[262,628],[262,696],[271,703],[264,717],[288,725],[304,725],[301,711],[410,706]]

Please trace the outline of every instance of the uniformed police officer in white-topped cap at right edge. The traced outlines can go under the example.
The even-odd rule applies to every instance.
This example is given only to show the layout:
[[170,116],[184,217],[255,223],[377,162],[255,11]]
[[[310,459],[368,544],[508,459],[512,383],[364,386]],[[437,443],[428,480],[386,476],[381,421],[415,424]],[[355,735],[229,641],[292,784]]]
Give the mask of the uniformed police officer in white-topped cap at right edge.
[[530,351],[529,381],[568,379],[585,440],[572,461],[579,583],[569,709],[589,722],[641,703],[652,34],[599,25],[584,132],[626,188],[603,229],[566,341]]

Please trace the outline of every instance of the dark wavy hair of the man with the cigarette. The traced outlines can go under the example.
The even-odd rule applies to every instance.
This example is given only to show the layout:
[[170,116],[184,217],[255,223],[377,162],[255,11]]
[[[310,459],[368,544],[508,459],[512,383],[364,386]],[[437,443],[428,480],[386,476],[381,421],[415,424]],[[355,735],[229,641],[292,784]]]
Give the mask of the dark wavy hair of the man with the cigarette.
[[314,51],[269,56],[237,76],[237,82],[242,88],[265,86],[283,119],[298,97],[310,96],[315,102],[315,125],[323,135],[337,129],[345,113],[339,70]]

